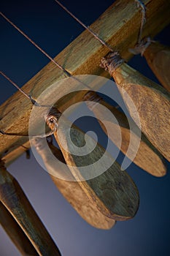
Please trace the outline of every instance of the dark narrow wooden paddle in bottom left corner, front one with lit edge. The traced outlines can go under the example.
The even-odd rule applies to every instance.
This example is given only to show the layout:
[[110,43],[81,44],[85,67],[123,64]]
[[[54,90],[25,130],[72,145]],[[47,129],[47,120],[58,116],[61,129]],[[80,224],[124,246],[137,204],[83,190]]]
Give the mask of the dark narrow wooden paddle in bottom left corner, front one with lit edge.
[[0,201],[18,223],[39,255],[61,255],[18,181],[0,162]]

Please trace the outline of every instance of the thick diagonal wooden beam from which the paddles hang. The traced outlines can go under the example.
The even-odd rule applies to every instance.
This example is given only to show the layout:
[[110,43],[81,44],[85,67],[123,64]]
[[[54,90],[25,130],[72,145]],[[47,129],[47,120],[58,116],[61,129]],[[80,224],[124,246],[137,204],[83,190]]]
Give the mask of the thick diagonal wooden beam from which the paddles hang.
[[[149,35],[154,37],[169,23],[169,1],[146,0],[144,4],[147,9],[147,22],[144,25],[143,37]],[[133,48],[136,45],[140,22],[141,10],[136,7],[134,0],[117,0],[90,28],[113,49],[120,50],[123,58],[130,59],[132,54],[128,52],[128,48]],[[107,72],[104,72],[99,64],[101,57],[105,56],[108,51],[88,31],[84,31],[59,53],[55,60],[72,75],[93,74],[107,77]],[[23,86],[23,90],[27,93],[31,91],[32,97],[36,99],[42,91],[62,78],[64,78],[63,72],[58,70],[53,63],[49,63]],[[58,86],[58,90],[61,90],[61,87]],[[83,94],[77,94],[77,97],[82,99]],[[67,102],[69,105],[72,104],[72,99],[68,98],[66,102],[61,102],[62,105],[58,105],[61,112],[63,108],[66,108]],[[32,105],[28,99],[19,92],[16,93],[1,105],[0,128],[6,132],[28,134],[31,108]],[[23,153],[23,148],[19,148],[19,146],[26,143],[28,138],[0,135],[0,140],[0,155],[13,146],[12,151],[18,148],[13,154],[13,159],[15,159]],[[6,155],[6,164],[12,162],[10,156]]]

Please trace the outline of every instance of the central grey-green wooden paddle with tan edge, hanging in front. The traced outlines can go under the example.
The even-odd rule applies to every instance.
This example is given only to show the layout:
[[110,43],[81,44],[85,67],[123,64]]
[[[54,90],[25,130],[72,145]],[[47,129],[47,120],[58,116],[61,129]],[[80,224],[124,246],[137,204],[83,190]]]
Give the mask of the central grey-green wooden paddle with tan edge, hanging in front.
[[[94,148],[93,151],[82,156],[71,154],[70,152],[74,151],[75,145],[80,148],[80,152],[82,151],[82,147],[85,146],[85,133],[74,125],[69,129],[70,122],[63,116],[63,121],[58,124],[60,116],[61,113],[52,108],[45,120],[50,129],[54,131],[55,139],[61,148],[66,164],[69,165],[76,181],[80,181],[80,187],[99,211],[107,217],[115,220],[134,217],[139,207],[139,193],[134,181],[124,170],[120,170],[120,165],[114,162],[114,159],[105,152],[104,148],[89,138],[88,135],[86,135],[87,148]],[[68,142],[69,136],[74,143]],[[104,154],[106,157],[101,161],[100,159]],[[108,163],[112,164],[106,169]],[[85,167],[85,171],[81,167]],[[101,174],[101,170],[106,171]],[[95,178],[85,180],[89,177],[88,171]]]

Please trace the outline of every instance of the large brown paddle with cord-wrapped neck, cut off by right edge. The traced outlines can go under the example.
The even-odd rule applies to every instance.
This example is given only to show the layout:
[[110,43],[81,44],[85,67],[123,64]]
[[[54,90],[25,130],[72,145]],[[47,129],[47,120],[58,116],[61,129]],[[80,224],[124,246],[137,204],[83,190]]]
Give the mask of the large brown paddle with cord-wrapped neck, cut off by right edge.
[[[109,71],[128,108],[136,121],[139,114],[142,132],[155,148],[170,161],[170,94],[157,83],[144,77],[125,64],[117,52],[101,60],[101,67]],[[134,105],[131,105],[128,96]]]

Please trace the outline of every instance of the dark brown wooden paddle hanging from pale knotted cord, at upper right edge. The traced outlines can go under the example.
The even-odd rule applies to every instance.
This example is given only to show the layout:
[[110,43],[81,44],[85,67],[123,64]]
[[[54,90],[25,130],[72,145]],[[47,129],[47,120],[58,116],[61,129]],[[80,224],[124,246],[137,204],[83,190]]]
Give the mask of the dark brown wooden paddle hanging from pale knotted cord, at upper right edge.
[[152,42],[144,51],[144,58],[163,87],[170,92],[170,48]]

